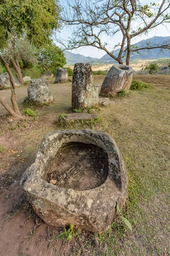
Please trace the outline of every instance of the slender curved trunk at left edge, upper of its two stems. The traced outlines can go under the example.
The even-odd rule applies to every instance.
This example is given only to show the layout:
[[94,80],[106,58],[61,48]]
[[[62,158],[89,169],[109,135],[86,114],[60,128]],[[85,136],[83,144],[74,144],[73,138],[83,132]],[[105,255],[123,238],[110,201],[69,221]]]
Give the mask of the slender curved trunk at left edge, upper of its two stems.
[[6,68],[6,71],[8,72],[8,75],[9,75],[9,79],[10,79],[10,84],[11,84],[11,102],[12,102],[12,105],[13,105],[13,108],[14,108],[14,111],[15,113],[17,113],[18,115],[20,115],[20,111],[19,111],[19,108],[18,108],[18,105],[17,105],[17,101],[16,101],[16,88],[15,88],[15,83],[14,83],[14,77],[11,73],[11,70],[9,69],[9,65],[8,63],[6,62],[6,60],[3,58],[2,55],[0,55],[0,59],[1,61],[3,62],[5,68]]

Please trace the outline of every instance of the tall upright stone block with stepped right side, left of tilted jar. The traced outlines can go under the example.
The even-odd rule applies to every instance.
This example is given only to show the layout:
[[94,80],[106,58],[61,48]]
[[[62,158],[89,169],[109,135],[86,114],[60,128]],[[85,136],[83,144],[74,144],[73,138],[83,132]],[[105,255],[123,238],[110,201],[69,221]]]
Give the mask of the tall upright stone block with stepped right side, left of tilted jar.
[[93,85],[91,64],[75,64],[72,82],[72,108],[86,108],[91,105],[97,105],[98,101],[99,89]]

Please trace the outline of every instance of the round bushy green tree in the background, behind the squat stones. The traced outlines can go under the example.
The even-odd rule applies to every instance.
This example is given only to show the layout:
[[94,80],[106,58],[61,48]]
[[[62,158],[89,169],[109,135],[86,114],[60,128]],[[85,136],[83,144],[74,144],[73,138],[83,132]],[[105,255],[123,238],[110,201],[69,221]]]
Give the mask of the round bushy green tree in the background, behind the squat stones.
[[66,64],[64,53],[55,44],[48,44],[37,49],[37,62],[43,67],[45,72],[56,71],[57,67]]

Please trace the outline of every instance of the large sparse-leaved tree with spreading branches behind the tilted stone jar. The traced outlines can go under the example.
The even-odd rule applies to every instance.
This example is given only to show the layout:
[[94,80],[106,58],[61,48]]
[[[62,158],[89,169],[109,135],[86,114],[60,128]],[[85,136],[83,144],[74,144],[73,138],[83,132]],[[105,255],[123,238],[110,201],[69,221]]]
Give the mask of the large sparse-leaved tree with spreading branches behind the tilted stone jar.
[[[119,64],[123,64],[126,57],[129,65],[130,54],[134,52],[170,49],[170,40],[162,44],[149,42],[141,47],[131,44],[134,38],[170,23],[170,0],[162,0],[161,3],[153,0],[149,3],[140,0],[66,0],[60,20],[72,32],[71,37],[64,41],[56,38],[63,50],[93,46],[104,50]],[[105,37],[114,38],[117,33],[122,37],[119,44],[109,46],[103,41]],[[120,47],[119,54],[115,56],[117,47]]]

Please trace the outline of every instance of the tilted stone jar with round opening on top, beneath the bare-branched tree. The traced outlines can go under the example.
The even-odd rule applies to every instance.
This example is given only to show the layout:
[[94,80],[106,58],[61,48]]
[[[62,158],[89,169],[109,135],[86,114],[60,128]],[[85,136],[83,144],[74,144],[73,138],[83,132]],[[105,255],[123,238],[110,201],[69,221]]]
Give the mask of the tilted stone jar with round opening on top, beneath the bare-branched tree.
[[121,64],[113,65],[105,76],[100,93],[109,95],[117,94],[124,88],[129,90],[132,77],[132,67]]

